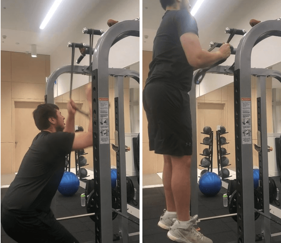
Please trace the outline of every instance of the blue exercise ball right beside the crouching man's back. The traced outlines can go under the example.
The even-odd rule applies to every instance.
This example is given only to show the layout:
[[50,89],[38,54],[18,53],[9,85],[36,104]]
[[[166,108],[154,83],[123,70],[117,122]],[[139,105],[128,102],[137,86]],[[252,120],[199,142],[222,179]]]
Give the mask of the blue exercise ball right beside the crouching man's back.
[[58,191],[64,196],[69,197],[78,191],[79,184],[79,179],[74,173],[65,171],[60,181]]

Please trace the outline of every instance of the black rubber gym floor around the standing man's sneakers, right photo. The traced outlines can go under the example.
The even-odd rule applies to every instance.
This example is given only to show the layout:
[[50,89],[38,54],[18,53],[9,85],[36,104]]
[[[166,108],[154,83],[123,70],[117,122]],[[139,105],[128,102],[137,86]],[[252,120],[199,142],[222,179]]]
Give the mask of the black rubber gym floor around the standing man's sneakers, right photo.
[[[274,177],[278,188],[281,188],[279,177]],[[227,189],[222,188],[214,197],[203,195],[198,189],[198,218],[229,214],[228,208],[223,207],[222,195]],[[143,195],[143,243],[171,243],[167,238],[167,231],[157,226],[163,209],[166,207],[164,188],[147,188],[142,190]],[[280,197],[279,197],[280,198]],[[281,201],[281,200],[279,200]],[[262,216],[260,216],[261,218]],[[277,221],[278,217],[271,215]],[[258,219],[259,220],[259,219]],[[271,234],[281,232],[281,225],[270,221]],[[202,221],[199,224],[200,232],[213,240],[214,243],[237,242],[237,223],[231,218]],[[259,232],[256,232],[258,234]],[[281,242],[281,238],[273,237],[271,242]]]

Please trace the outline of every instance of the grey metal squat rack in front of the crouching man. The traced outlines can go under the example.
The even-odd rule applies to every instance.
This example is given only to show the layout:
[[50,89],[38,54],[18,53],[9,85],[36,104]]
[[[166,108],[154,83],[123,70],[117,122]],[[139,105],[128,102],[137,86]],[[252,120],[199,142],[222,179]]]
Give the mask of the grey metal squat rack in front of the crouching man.
[[[99,38],[92,56],[92,65],[73,66],[73,73],[91,75],[92,83],[92,123],[93,123],[93,162],[95,182],[95,242],[113,242],[112,205],[110,179],[110,137],[109,137],[109,75],[115,77],[115,143],[125,148],[124,127],[124,77],[131,77],[140,83],[139,72],[121,68],[109,68],[111,46],[128,36],[140,36],[140,21],[126,20],[112,25]],[[55,70],[46,83],[45,103],[54,104],[54,83],[59,75],[71,73],[71,65]],[[103,119],[107,123],[101,124]],[[127,215],[126,162],[125,149],[116,152],[117,202],[119,210]],[[119,236],[121,242],[128,243],[128,220],[121,217]]]

